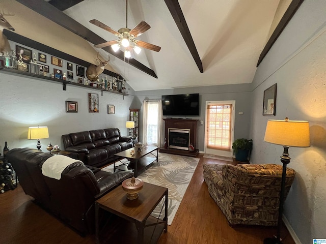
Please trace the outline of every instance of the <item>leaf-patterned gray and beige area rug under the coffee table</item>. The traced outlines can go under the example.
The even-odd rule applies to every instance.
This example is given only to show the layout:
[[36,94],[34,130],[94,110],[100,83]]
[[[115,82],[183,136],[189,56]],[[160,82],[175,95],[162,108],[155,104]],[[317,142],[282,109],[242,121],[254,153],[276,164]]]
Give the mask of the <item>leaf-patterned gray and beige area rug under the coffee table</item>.
[[[138,176],[145,182],[169,189],[168,225],[171,225],[174,219],[198,162],[197,158],[158,153],[158,162],[154,162],[150,168]],[[102,170],[113,172],[113,164]],[[153,211],[153,216],[158,217],[163,204],[164,199]]]

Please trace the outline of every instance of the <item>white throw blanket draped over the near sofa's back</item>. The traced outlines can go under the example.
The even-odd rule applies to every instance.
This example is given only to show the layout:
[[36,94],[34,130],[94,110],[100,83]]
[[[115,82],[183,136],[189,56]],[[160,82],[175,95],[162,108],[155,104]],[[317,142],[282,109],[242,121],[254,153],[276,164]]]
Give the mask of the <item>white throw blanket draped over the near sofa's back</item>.
[[55,179],[61,179],[62,171],[70,164],[81,162],[64,155],[56,155],[48,158],[42,165],[42,174]]

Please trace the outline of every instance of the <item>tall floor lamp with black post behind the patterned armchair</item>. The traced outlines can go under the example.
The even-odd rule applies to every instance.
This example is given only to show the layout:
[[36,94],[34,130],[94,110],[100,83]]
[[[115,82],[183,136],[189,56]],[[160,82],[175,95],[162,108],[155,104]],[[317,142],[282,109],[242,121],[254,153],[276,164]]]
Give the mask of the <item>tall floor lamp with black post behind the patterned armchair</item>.
[[287,117],[285,120],[268,120],[264,141],[283,145],[284,151],[281,156],[283,163],[279,219],[276,237],[265,238],[264,244],[280,244],[281,242],[281,226],[283,216],[283,203],[285,192],[286,165],[290,163],[288,149],[289,146],[308,147],[310,146],[309,122],[308,121],[290,121]]

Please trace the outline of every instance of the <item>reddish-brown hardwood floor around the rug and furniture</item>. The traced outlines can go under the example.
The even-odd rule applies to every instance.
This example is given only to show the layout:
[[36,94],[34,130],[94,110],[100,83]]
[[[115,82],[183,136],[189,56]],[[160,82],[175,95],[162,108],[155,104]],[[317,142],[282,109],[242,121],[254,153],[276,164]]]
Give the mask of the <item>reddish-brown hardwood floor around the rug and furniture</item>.
[[[203,163],[230,163],[200,158],[177,214],[157,243],[169,244],[261,244],[276,234],[275,227],[241,226],[232,228],[209,196],[203,179]],[[234,162],[233,164],[236,164]],[[20,186],[0,194],[0,243],[95,243],[95,236],[82,237],[34,204]],[[294,244],[283,225],[284,244]]]

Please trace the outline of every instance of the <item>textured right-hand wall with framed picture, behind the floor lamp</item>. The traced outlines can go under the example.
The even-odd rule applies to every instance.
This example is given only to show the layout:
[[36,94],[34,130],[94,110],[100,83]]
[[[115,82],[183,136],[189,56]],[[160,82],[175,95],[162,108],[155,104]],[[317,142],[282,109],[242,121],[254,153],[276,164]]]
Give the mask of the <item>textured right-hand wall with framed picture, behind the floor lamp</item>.
[[[263,142],[268,119],[308,120],[311,147],[290,147],[295,180],[284,215],[298,237],[325,238],[326,226],[326,2],[305,1],[273,46],[253,81],[253,163],[281,164],[283,147]],[[262,116],[263,91],[277,83],[276,116]],[[285,135],[286,136],[286,135]]]

